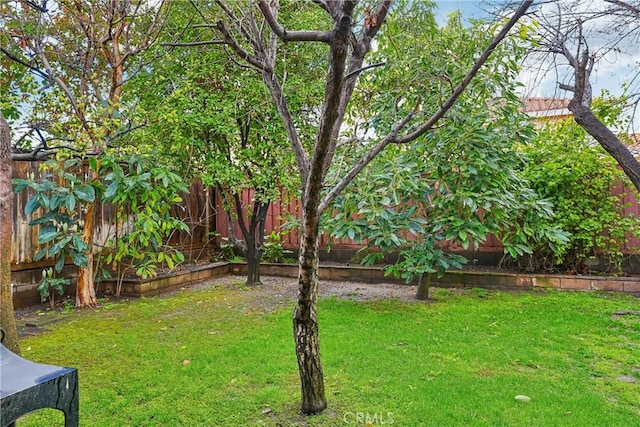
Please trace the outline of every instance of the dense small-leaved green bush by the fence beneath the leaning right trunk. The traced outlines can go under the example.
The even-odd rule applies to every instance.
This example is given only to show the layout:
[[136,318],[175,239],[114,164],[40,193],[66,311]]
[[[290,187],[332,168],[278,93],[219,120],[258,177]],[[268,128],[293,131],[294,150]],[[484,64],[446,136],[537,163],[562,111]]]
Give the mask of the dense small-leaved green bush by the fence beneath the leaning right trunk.
[[627,183],[615,160],[573,119],[546,124],[522,151],[528,158],[525,179],[553,203],[554,225],[570,233],[563,246],[535,249],[528,267],[585,273],[587,261],[600,256],[620,271],[628,233],[640,222],[624,214],[625,194],[612,191]]

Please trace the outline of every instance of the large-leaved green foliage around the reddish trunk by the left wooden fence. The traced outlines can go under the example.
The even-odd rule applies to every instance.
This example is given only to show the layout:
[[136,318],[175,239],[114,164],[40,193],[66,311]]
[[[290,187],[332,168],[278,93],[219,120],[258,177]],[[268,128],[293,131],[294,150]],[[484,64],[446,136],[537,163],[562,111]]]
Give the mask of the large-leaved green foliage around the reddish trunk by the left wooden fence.
[[[87,171],[99,179],[91,179]],[[141,277],[153,276],[158,265],[173,268],[182,262],[182,253],[166,245],[176,231],[188,231],[187,225],[172,216],[171,207],[182,201],[179,193],[187,191],[182,178],[152,158],[128,155],[126,159],[103,153],[85,162],[72,158],[50,159],[41,165],[40,176],[15,179],[14,191],[26,187],[34,190],[25,205],[25,214],[34,215],[30,225],[39,227],[35,261],[52,259],[60,273],[67,260],[78,267],[87,266],[87,254],[93,250],[83,240],[86,204],[111,203],[115,216],[106,231],[106,242],[96,242],[102,262],[124,274],[131,268]],[[56,278],[52,269],[43,274],[40,292],[43,299],[52,290],[62,293],[66,278]]]

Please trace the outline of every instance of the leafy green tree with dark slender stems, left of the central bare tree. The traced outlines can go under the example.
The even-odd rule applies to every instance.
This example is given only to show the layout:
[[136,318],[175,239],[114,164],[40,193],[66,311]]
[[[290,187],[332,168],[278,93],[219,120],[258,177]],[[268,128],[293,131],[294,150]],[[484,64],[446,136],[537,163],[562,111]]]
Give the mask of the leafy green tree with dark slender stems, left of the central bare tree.
[[[171,25],[182,37],[211,32],[187,28],[185,34],[187,12],[174,12]],[[150,68],[138,82],[153,123],[148,133],[160,136],[160,149],[183,176],[215,187],[229,241],[247,261],[247,284],[260,284],[269,206],[296,183],[295,161],[278,113],[258,76],[230,67],[224,52],[194,43],[167,44],[172,46],[166,53],[169,60]],[[246,192],[251,194],[248,201]]]

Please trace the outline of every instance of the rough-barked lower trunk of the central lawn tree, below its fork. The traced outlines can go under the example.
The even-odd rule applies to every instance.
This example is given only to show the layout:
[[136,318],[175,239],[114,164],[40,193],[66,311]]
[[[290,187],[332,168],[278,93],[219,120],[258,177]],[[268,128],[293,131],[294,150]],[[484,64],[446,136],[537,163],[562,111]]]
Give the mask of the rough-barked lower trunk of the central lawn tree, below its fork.
[[303,219],[300,240],[298,303],[293,315],[293,335],[300,372],[302,412],[310,415],[327,407],[318,336],[317,220],[309,223]]

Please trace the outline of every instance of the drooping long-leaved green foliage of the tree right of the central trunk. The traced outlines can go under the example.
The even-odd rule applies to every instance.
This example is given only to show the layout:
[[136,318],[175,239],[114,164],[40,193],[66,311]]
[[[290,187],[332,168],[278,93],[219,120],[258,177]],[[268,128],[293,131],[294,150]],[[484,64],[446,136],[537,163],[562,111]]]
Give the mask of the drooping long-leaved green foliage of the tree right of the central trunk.
[[[428,13],[416,19],[429,57],[436,59],[404,56],[407,49],[417,49],[415,40],[402,38],[407,34],[403,29],[415,22],[389,22],[390,34],[385,32],[382,43],[394,46],[385,51],[393,65],[372,72],[368,83],[371,91],[390,87],[385,87],[379,103],[373,98],[372,108],[357,111],[356,117],[370,126],[365,140],[386,131],[390,118],[407,114],[416,102],[437,108],[450,82],[459,81],[470,66],[469,52],[486,43],[478,34],[490,35],[486,24],[465,27],[459,15],[451,16],[442,28]],[[519,69],[515,59],[522,53],[517,39],[503,44],[441,126],[410,146],[388,147],[361,173],[351,191],[336,198],[327,227],[335,237],[366,242],[363,263],[399,252],[387,272],[410,281],[460,267],[467,259],[450,252],[452,245],[475,250],[490,233],[500,237],[505,251],[514,257],[531,253],[536,245],[553,251],[565,242],[565,233],[552,225],[551,204],[517,173],[523,159],[515,146],[533,135],[514,93]],[[451,56],[457,60],[443,59]],[[411,67],[418,71],[407,73]],[[401,81],[397,87],[395,80]],[[396,102],[393,111],[383,108],[388,105],[385,98],[394,96],[402,102]],[[356,138],[353,144],[361,143]]]

